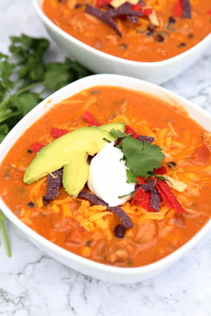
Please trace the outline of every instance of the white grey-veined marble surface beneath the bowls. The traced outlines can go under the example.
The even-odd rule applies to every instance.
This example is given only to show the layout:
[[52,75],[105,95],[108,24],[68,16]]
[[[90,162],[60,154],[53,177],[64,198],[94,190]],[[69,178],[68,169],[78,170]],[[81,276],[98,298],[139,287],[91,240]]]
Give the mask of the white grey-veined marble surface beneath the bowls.
[[[30,0],[0,1],[0,51],[9,35],[47,36]],[[64,53],[51,46],[51,59]],[[211,55],[164,85],[211,112]],[[75,272],[6,223],[12,257],[0,247],[2,316],[211,315],[211,232],[176,264],[143,283],[117,285]]]

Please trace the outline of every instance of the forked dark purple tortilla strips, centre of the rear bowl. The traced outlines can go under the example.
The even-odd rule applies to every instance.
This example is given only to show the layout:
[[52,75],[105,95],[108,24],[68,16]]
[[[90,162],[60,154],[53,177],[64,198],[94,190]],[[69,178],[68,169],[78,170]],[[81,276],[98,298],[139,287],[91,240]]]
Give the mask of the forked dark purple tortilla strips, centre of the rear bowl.
[[[105,7],[105,6],[104,6]],[[118,29],[115,21],[113,20],[115,17],[119,15],[129,15],[129,16],[142,16],[142,12],[133,11],[131,9],[130,3],[122,4],[119,8],[116,9],[109,9],[108,11],[102,11],[101,9],[98,9],[96,7],[93,7],[92,5],[86,4],[85,12],[88,14],[91,14],[95,16],[97,19],[99,19],[102,22],[107,23],[113,30],[122,37],[121,31]],[[108,7],[106,7],[108,8]],[[130,18],[132,19],[132,18]],[[133,21],[137,21],[137,19],[133,19]],[[135,23],[135,22],[133,22]]]

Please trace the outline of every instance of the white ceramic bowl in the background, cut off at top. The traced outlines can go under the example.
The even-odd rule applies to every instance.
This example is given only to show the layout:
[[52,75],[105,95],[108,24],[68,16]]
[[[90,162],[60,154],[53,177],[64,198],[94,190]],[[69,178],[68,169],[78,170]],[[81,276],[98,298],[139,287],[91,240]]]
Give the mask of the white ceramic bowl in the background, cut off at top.
[[56,26],[42,11],[43,0],[33,0],[34,9],[50,37],[80,64],[94,73],[131,76],[162,84],[192,65],[208,49],[211,33],[200,43],[173,58],[144,63],[115,57],[88,46]]

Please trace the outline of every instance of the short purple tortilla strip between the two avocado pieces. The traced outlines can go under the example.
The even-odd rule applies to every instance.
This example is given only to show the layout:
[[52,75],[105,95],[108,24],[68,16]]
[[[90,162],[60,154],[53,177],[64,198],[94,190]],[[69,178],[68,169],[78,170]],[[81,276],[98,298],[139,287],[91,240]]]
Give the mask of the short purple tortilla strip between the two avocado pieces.
[[45,196],[46,200],[54,200],[56,198],[58,189],[60,188],[62,183],[63,169],[58,169],[54,171],[53,175],[56,178],[53,178],[51,174],[48,175],[47,192]]

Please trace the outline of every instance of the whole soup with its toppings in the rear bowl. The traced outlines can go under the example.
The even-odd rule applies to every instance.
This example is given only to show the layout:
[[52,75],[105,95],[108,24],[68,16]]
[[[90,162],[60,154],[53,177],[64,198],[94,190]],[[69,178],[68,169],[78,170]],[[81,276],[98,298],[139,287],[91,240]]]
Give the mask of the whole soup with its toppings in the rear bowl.
[[44,0],[43,11],[85,44],[141,62],[179,55],[211,32],[210,0]]

